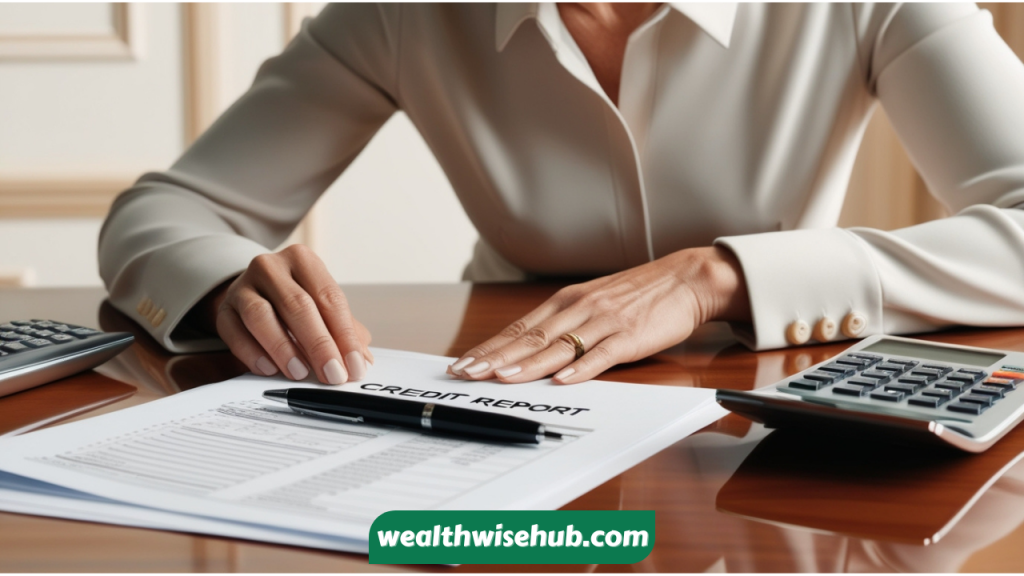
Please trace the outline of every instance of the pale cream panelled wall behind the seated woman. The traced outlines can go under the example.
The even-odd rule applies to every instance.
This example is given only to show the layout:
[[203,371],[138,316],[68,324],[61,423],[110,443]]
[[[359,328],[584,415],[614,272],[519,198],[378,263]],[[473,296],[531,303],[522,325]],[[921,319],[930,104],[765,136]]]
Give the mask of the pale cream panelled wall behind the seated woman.
[[[1024,55],[1024,5],[982,5]],[[0,3],[0,286],[99,284],[94,247],[114,196],[172,162],[319,6]],[[353,216],[383,213],[388,225]],[[944,214],[879,110],[841,225]],[[459,279],[475,238],[399,114],[293,241],[343,283],[444,282]]]

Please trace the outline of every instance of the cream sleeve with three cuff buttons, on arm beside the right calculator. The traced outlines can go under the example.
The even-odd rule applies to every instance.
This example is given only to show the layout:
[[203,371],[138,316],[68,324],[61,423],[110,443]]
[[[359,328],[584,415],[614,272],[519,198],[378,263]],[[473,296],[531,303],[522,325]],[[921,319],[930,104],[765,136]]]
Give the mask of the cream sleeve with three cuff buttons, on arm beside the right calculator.
[[867,89],[955,215],[719,239],[741,262],[754,322],[737,335],[756,349],[790,345],[797,321],[858,316],[857,336],[1024,325],[1024,65],[974,5],[867,12],[854,18]]

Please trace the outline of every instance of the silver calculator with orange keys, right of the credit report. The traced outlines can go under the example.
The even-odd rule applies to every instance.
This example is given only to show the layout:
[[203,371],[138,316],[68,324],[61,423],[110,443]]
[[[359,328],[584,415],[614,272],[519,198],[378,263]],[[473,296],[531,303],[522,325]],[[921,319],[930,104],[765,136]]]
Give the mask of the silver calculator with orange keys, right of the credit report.
[[718,390],[768,427],[835,428],[981,452],[1024,419],[1024,353],[871,336],[775,385]]

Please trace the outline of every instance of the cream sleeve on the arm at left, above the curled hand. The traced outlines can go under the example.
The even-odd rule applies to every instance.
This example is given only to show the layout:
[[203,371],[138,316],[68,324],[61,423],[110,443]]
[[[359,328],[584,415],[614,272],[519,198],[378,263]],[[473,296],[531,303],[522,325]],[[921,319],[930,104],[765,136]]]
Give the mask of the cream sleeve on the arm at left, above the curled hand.
[[118,197],[99,238],[112,303],[172,352],[210,290],[280,245],[396,110],[394,5],[326,8],[173,166]]

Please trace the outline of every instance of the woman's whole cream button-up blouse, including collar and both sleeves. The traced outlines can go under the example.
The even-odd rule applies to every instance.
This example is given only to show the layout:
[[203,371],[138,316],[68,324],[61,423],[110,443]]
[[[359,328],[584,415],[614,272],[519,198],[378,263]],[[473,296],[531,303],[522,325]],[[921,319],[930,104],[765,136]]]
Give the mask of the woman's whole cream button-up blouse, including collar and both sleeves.
[[[622,75],[616,108],[554,4],[331,5],[118,199],[99,245],[112,301],[169,349],[217,345],[175,327],[402,110],[480,233],[470,280],[718,243],[742,265],[753,324],[735,328],[757,349],[1024,324],[1024,66],[987,11],[667,5]],[[876,101],[955,216],[836,228]]]

